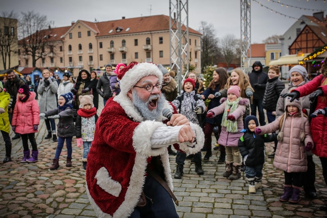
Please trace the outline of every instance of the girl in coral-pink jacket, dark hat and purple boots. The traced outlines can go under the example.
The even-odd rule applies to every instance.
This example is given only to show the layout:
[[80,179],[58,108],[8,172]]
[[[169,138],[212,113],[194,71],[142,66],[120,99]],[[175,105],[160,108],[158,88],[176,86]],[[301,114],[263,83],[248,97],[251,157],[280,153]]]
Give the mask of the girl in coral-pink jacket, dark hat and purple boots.
[[[17,102],[14,109],[12,127],[15,133],[21,134],[24,157],[21,163],[37,162],[39,154],[34,133],[37,132],[40,124],[40,109],[35,100],[35,93],[30,92],[28,85],[22,85],[18,89]],[[32,155],[30,156],[30,149],[28,140],[32,145]]]

